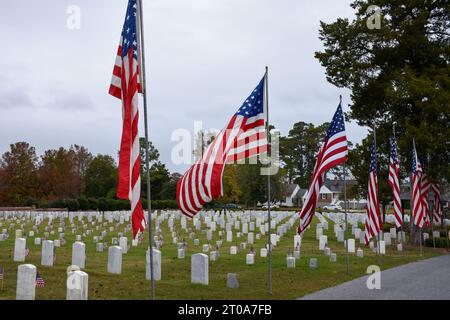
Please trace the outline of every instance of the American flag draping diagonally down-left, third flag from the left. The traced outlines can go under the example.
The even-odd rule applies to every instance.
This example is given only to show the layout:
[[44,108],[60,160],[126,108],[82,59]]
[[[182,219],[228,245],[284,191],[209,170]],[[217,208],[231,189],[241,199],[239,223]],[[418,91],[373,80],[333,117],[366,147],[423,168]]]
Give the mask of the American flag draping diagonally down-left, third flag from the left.
[[347,136],[345,135],[344,115],[339,104],[327,131],[325,142],[320,148],[316,165],[311,178],[311,185],[299,213],[300,224],[298,233],[309,226],[316,211],[317,199],[323,185],[324,173],[331,168],[344,163],[348,156]]

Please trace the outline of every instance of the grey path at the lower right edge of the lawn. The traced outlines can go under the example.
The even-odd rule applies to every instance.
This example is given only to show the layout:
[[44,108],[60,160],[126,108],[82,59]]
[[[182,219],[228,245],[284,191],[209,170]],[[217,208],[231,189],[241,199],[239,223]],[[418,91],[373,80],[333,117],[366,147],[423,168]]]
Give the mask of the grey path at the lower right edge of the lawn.
[[450,255],[381,272],[381,289],[369,290],[369,275],[300,300],[450,300]]

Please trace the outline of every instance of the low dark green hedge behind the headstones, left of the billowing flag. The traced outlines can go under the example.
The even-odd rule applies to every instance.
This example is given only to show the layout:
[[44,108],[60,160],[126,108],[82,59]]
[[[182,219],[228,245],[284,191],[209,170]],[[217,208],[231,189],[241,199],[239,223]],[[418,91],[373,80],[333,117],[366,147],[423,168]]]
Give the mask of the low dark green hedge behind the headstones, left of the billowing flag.
[[[152,209],[177,209],[176,200],[153,200]],[[64,208],[69,211],[79,210],[99,210],[99,211],[120,211],[130,210],[128,200],[109,199],[109,198],[79,198],[79,199],[57,199],[49,203],[43,203],[41,208]],[[142,200],[142,207],[147,208],[147,200]]]

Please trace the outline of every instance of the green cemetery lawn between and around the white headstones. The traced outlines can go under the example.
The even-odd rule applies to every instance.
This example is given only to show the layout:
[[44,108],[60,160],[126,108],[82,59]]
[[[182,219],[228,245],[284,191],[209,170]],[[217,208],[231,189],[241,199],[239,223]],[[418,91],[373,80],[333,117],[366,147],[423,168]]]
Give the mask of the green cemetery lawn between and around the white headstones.
[[[38,236],[44,233],[44,227],[48,220],[39,227]],[[186,232],[180,227],[180,220],[175,220],[176,230],[181,237],[188,241],[186,258],[177,259],[176,244],[172,244],[171,235],[168,229],[167,220],[162,223],[162,230],[165,243],[162,247],[162,280],[156,282],[157,299],[296,299],[306,294],[325,289],[340,283],[361,277],[366,274],[369,265],[378,265],[378,258],[369,247],[364,248],[364,258],[356,257],[356,254],[350,254],[350,274],[346,273],[346,256],[343,243],[336,241],[333,232],[333,222],[329,221],[329,229],[323,230],[328,236],[329,247],[332,252],[337,253],[337,262],[329,262],[322,251],[319,251],[319,241],[315,238],[317,218],[314,218],[311,229],[307,230],[303,238],[301,247],[301,258],[296,261],[295,269],[286,268],[286,254],[289,249],[293,249],[293,237],[296,234],[294,225],[285,236],[280,239],[279,244],[274,248],[272,257],[273,266],[273,294],[267,293],[267,258],[261,258],[260,248],[264,247],[267,241],[267,235],[262,236],[261,240],[256,240],[254,248],[256,250],[255,264],[246,265],[246,254],[249,253],[249,245],[246,250],[239,250],[237,255],[230,255],[230,246],[238,245],[240,242],[246,242],[247,236],[243,235],[240,239],[236,238],[236,230],[233,228],[233,242],[223,242],[220,249],[220,257],[217,261],[209,262],[209,285],[193,285],[190,283],[191,277],[191,255],[201,252],[201,245],[206,244],[206,235],[196,231],[200,239],[200,246],[196,247],[193,240],[189,239]],[[78,224],[78,234],[82,234],[81,223],[75,219]],[[66,225],[70,225],[67,219]],[[109,231],[109,226],[103,227]],[[192,222],[188,220],[188,225]],[[54,221],[55,229],[59,226],[59,219]],[[121,225],[114,232],[108,232],[105,237],[108,245],[111,245],[111,238],[117,237],[118,232],[123,232],[124,225]],[[204,224],[202,224],[204,227]],[[363,226],[360,225],[363,229]],[[5,227],[5,222],[4,226]],[[31,222],[28,222],[25,228],[25,235],[32,228]],[[90,226],[89,228],[92,229]],[[103,230],[100,229],[100,230]],[[60,248],[55,248],[56,263],[53,267],[41,266],[41,246],[34,245],[34,238],[27,237],[27,246],[30,254],[26,257],[25,263],[34,264],[38,272],[45,280],[45,288],[36,288],[37,300],[61,299],[66,298],[66,269],[71,264],[71,248],[75,241],[75,234],[70,232],[70,227],[66,229],[65,238],[67,244]],[[99,235],[100,231],[83,239],[86,244],[86,271],[89,274],[89,299],[90,300],[111,300],[128,299],[140,300],[150,299],[150,282],[145,280],[145,250],[148,243],[148,233],[146,241],[138,247],[131,247],[127,254],[123,255],[122,274],[112,275],[107,273],[108,249],[104,252],[96,252],[96,245],[92,238]],[[18,262],[13,262],[14,235],[15,228],[9,229],[9,238],[6,241],[0,241],[0,266],[4,268],[3,291],[0,291],[0,300],[14,300],[16,296],[16,280]],[[57,232],[55,232],[57,234]],[[256,234],[256,232],[255,232]],[[125,234],[131,244],[131,233]],[[50,236],[50,239],[56,239],[57,236]],[[226,233],[224,234],[226,239]],[[219,240],[218,232],[213,235],[212,244]],[[236,241],[237,240],[237,241]],[[356,240],[356,248],[359,241]],[[419,254],[418,247],[406,246],[404,253],[397,252],[396,241],[393,240],[392,246],[386,246],[386,255],[381,257],[381,269],[385,270],[402,264],[415,262],[421,259],[431,258],[446,253],[445,249],[424,248],[423,256]],[[318,258],[319,268],[310,270],[309,258]],[[226,287],[227,273],[237,273],[239,280],[239,289],[229,289]]]

